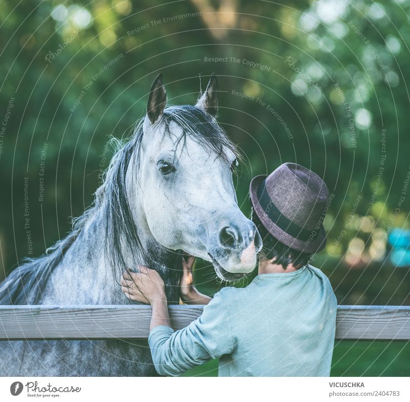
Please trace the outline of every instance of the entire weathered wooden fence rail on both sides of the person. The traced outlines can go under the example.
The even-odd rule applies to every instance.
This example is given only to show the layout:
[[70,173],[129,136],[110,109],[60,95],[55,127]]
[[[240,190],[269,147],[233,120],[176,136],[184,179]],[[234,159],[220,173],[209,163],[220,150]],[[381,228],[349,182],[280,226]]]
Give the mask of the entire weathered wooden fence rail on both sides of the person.
[[[203,306],[170,306],[174,329]],[[150,306],[0,306],[0,339],[147,338]],[[410,306],[339,306],[336,339],[409,340]]]

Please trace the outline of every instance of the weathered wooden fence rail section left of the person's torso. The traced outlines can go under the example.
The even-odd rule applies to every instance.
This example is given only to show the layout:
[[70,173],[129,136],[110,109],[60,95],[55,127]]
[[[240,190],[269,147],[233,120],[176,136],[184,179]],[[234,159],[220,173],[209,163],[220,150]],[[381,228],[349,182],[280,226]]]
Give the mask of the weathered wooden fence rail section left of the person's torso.
[[[186,327],[202,306],[170,306],[174,328]],[[0,306],[0,339],[148,338],[150,306]]]

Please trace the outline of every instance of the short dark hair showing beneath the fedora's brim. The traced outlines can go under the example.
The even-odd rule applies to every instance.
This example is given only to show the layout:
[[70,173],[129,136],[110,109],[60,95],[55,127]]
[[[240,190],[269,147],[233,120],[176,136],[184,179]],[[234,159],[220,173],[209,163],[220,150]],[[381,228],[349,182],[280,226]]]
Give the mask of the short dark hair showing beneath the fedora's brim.
[[[252,205],[252,204],[251,204]],[[256,225],[260,236],[262,237],[262,250],[260,250],[258,256],[263,259],[273,259],[275,264],[279,264],[286,269],[289,264],[293,266],[305,266],[309,264],[313,254],[306,254],[279,242],[268,230],[263,226],[262,222],[255,210],[252,207],[251,220]]]

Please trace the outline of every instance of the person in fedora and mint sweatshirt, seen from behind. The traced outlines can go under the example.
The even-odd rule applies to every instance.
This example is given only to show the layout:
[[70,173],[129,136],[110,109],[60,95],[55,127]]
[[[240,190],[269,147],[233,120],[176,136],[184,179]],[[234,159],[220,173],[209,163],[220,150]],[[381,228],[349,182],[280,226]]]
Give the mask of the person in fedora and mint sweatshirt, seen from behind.
[[122,290],[151,304],[149,345],[159,374],[180,375],[219,358],[219,376],[329,376],[337,302],[329,279],[309,265],[326,243],[329,190],[310,170],[286,163],[251,182],[252,219],[263,240],[258,276],[213,299],[192,284],[183,262],[181,298],[207,304],[188,327],[171,328],[164,285],[146,267],[126,273]]

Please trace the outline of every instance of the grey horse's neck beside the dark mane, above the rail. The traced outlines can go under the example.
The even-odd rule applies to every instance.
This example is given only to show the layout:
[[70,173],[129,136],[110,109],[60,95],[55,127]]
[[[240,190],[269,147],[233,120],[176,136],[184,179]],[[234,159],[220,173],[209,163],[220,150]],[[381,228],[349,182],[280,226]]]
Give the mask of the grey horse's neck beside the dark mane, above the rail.
[[[119,233],[121,228],[107,228],[107,206],[116,203],[116,199],[101,192],[99,202],[86,215],[74,244],[67,251],[64,263],[58,266],[61,275],[58,288],[75,285],[72,292],[74,297],[85,300],[90,304],[127,303],[128,299],[120,291],[119,282],[122,270],[137,271],[138,265],[145,265],[156,270],[166,285],[168,300],[178,303],[178,282],[181,273],[181,252],[175,252],[162,247],[149,230],[144,208],[138,194],[138,185],[133,179],[135,172],[127,171],[126,188],[128,203],[132,219],[138,232],[139,244],[127,244],[124,236]],[[120,211],[118,211],[120,213]],[[107,232],[108,230],[108,232]],[[110,247],[106,247],[106,238],[116,233],[121,239],[120,250],[124,265],[119,264],[117,258],[112,258]],[[115,265],[115,266],[113,266]],[[64,280],[63,280],[64,278]],[[58,279],[57,279],[58,280]],[[90,289],[92,288],[92,290]]]

